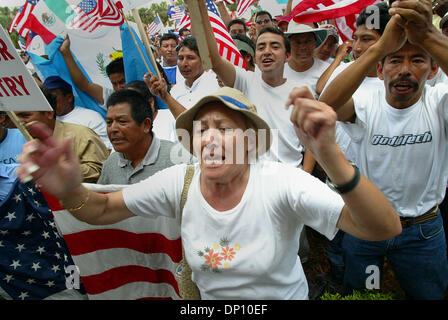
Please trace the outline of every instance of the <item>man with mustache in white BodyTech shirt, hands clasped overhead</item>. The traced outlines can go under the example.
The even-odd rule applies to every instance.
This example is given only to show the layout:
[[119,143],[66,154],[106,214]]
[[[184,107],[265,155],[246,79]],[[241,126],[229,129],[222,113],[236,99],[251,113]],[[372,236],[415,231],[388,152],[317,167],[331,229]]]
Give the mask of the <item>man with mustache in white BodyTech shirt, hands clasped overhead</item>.
[[[344,286],[372,288],[369,267],[382,270],[387,257],[407,297],[441,299],[448,283],[438,209],[448,178],[448,86],[426,81],[438,66],[448,71],[448,39],[432,24],[429,0],[394,2],[389,13],[380,40],[320,97],[339,120],[355,123],[349,134],[359,145],[357,165],[392,203],[403,227],[384,242],[346,235]],[[384,88],[355,93],[375,65]]]

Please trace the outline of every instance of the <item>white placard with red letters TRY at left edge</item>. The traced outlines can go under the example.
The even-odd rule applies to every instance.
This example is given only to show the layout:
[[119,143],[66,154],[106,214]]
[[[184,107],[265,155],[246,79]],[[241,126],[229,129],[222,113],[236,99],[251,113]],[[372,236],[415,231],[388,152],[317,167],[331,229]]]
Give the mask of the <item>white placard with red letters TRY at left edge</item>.
[[0,111],[53,111],[0,26]]

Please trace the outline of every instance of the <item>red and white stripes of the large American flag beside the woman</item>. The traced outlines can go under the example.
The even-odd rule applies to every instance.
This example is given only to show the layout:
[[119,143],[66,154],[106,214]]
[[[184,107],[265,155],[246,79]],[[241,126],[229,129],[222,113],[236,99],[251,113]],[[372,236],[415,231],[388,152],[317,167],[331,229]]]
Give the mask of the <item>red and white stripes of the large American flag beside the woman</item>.
[[[123,185],[86,184],[111,192]],[[174,270],[182,259],[179,222],[132,217],[107,226],[74,218],[45,194],[54,220],[79,267],[89,299],[179,300]]]

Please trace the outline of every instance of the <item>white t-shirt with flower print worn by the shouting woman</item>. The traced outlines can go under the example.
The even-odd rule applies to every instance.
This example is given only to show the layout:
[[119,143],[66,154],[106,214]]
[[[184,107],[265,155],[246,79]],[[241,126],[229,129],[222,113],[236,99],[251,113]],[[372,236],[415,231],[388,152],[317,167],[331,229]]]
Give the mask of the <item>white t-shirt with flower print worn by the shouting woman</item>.
[[[304,224],[332,239],[342,198],[286,164],[260,161],[250,170],[240,203],[219,212],[202,196],[195,165],[182,217],[193,280],[202,299],[308,299],[297,239]],[[126,206],[141,216],[178,218],[185,171],[173,166],[124,189]]]

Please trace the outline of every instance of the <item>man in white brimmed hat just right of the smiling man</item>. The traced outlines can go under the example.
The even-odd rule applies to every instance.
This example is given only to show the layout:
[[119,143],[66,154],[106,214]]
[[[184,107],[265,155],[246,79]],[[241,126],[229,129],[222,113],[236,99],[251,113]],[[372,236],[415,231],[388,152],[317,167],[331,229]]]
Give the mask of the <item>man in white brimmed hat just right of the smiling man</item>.
[[291,42],[291,59],[285,65],[285,77],[309,86],[315,93],[317,80],[330,64],[315,58],[314,52],[327,39],[328,29],[291,20],[285,34]]

